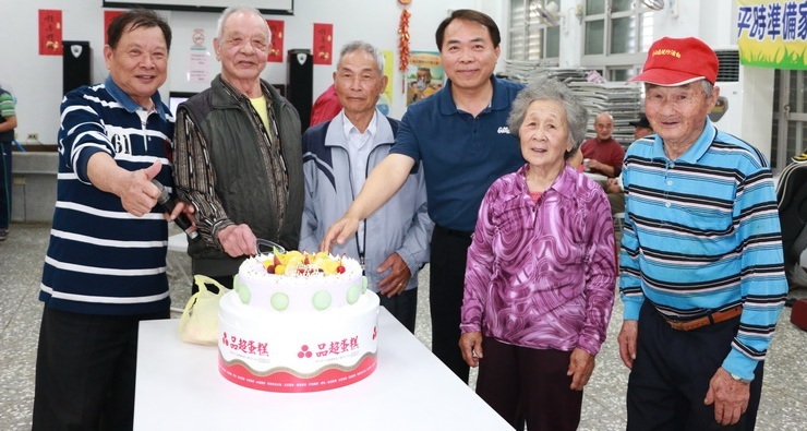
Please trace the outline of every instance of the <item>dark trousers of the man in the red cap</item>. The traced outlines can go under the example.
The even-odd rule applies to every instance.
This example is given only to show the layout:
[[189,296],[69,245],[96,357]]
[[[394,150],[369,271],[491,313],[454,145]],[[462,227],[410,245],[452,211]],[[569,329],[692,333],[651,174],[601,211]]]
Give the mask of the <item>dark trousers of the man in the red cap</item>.
[[739,318],[735,318],[694,331],[676,331],[645,301],[636,360],[628,378],[628,431],[754,430],[763,362],[755,371],[748,409],[735,426],[719,424],[714,405],[703,404],[709,381],[728,355],[738,326]]

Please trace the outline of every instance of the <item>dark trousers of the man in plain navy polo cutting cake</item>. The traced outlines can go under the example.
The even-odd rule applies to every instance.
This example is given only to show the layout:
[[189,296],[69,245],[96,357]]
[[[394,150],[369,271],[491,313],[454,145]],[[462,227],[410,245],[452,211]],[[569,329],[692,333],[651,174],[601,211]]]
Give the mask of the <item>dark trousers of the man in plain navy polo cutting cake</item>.
[[432,352],[466,383],[470,368],[459,351],[459,320],[470,246],[470,234],[435,226],[429,273]]

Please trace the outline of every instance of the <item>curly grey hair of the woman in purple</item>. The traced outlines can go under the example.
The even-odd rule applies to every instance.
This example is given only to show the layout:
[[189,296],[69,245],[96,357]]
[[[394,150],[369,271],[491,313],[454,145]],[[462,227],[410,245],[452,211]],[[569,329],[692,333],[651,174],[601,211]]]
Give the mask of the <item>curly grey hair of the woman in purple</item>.
[[541,79],[531,82],[526,88],[518,93],[513,100],[510,116],[507,118],[507,127],[510,133],[518,136],[518,129],[527,116],[527,108],[537,100],[557,101],[566,111],[566,122],[569,128],[569,141],[571,151],[566,152],[566,158],[575,154],[578,146],[586,140],[586,127],[589,120],[589,111],[582,103],[571,93],[566,84],[552,80]]

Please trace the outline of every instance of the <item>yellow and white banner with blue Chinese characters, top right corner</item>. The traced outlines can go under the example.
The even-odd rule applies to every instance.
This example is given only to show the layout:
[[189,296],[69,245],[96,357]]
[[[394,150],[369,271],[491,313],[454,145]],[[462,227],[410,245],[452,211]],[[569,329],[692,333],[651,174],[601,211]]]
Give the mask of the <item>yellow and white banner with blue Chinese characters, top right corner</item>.
[[807,0],[737,0],[739,62],[807,70]]

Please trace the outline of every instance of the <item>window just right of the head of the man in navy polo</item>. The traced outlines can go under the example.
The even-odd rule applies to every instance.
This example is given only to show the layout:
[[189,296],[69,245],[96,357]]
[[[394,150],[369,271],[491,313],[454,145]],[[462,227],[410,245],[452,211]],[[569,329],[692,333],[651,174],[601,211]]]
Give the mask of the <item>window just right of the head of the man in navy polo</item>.
[[561,26],[545,19],[541,11],[557,14],[557,2],[547,0],[510,0],[508,58],[514,60],[551,60],[561,55]]

